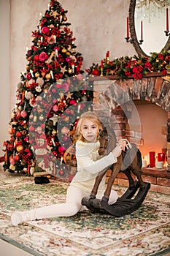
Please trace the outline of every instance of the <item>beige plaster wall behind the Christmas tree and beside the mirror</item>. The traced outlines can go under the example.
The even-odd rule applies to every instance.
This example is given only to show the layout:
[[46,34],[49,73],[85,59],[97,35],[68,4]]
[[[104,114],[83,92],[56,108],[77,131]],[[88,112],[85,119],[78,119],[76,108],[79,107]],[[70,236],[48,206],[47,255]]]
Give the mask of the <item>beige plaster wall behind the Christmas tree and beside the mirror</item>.
[[[16,103],[20,72],[26,71],[26,47],[31,47],[31,32],[39,25],[50,0],[0,0],[1,37],[1,141],[9,139],[8,122]],[[68,10],[77,51],[84,58],[83,69],[104,59],[133,56],[133,45],[125,42],[126,17],[130,0],[61,0]],[[10,12],[9,12],[10,3]],[[10,24],[9,24],[10,20]],[[10,37],[9,37],[10,36]],[[3,91],[3,92],[2,92]],[[0,147],[2,147],[0,145]],[[0,149],[0,156],[1,149]]]

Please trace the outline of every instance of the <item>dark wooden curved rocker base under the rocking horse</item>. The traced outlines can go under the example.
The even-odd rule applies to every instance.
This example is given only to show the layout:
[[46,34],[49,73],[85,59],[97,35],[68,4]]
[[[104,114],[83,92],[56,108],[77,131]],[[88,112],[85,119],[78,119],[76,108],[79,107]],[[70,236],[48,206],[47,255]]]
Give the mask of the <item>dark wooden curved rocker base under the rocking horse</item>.
[[117,199],[116,203],[112,205],[109,205],[104,200],[97,198],[93,199],[91,197],[83,197],[82,206],[86,206],[91,211],[101,212],[103,214],[111,214],[115,217],[122,217],[124,215],[131,214],[142,205],[149,189],[149,182],[144,182],[144,187],[140,188],[139,182],[135,181],[134,187],[128,187],[125,193]]

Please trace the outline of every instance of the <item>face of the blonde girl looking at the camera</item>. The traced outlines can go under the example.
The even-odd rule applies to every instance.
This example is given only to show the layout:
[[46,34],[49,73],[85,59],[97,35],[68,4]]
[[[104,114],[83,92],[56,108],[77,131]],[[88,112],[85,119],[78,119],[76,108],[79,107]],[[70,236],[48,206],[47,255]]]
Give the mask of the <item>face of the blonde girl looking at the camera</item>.
[[98,124],[88,118],[85,118],[82,120],[80,132],[82,133],[82,136],[85,138],[85,140],[87,140],[87,142],[94,143],[98,137]]

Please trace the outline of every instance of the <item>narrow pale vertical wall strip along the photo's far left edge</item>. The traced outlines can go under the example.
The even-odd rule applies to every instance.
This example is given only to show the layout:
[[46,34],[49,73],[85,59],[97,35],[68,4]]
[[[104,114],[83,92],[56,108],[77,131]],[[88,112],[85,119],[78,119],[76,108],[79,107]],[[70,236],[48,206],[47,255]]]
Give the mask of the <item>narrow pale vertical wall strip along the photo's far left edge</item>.
[[8,123],[10,118],[10,100],[9,100],[9,0],[0,0],[0,157],[4,155],[4,140],[9,139]]

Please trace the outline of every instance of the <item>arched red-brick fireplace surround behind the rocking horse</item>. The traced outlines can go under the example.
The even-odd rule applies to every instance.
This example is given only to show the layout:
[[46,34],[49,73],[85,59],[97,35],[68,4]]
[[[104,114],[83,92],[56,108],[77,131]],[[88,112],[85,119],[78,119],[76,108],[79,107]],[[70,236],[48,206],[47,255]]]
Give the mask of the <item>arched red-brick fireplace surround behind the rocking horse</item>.
[[[93,83],[93,108],[101,117],[104,124],[111,126],[119,138],[127,138],[136,145],[142,144],[142,127],[139,124],[129,126],[128,120],[134,111],[131,102],[139,100],[148,102],[161,107],[167,113],[166,124],[163,124],[163,132],[166,138],[167,165],[161,170],[157,168],[143,167],[144,181],[151,183],[151,190],[170,194],[170,82],[161,77],[160,73],[148,74],[141,80],[120,80],[116,76],[93,77],[90,78]],[[121,91],[125,92],[121,94]],[[124,96],[125,95],[125,96]],[[123,99],[126,97],[127,99]],[[128,103],[128,97],[129,103]],[[125,106],[119,102],[126,102]],[[98,104],[99,103],[99,104]],[[114,118],[113,118],[114,116]],[[152,116],[150,117],[152,120]],[[156,143],[156,138],[155,138]],[[128,186],[128,180],[123,173],[120,173],[115,184]]]

